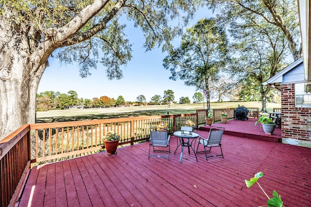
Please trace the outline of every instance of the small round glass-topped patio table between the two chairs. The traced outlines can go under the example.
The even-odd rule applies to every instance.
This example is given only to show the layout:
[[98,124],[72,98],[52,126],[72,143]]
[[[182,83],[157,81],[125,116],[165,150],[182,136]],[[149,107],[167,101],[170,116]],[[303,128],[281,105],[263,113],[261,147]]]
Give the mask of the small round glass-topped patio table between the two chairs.
[[[195,145],[195,140],[196,140],[196,138],[199,137],[199,135],[197,133],[194,133],[194,132],[192,132],[191,134],[183,134],[182,131],[175,131],[174,136],[178,137],[178,139],[179,139],[179,144],[178,144],[177,148],[175,149],[174,155],[175,155],[178,147],[181,146],[181,153],[180,153],[179,162],[181,162],[181,159],[183,157],[183,152],[184,152],[185,146],[188,147],[189,154],[190,154],[190,148],[192,149],[192,151],[195,155],[195,159],[196,159],[196,161],[198,161],[198,158],[196,157],[195,151],[192,148],[192,143],[194,141],[194,145]],[[186,139],[186,142],[184,139]],[[191,139],[191,142],[190,142],[190,139]]]

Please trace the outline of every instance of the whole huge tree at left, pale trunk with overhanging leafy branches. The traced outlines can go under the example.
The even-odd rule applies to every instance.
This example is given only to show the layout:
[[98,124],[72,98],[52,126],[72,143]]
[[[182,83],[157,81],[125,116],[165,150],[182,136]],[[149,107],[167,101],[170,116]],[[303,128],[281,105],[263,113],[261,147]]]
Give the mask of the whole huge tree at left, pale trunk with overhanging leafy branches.
[[[141,28],[146,50],[161,45],[165,50],[171,48],[170,41],[181,33],[199,3],[197,0],[1,1],[0,139],[24,124],[35,123],[36,92],[52,54],[64,64],[77,62],[81,77],[90,75],[91,68],[101,62],[109,79],[120,79],[120,66],[132,57],[131,44],[124,37],[125,25],[118,23],[121,16]],[[175,21],[176,18],[180,21]],[[172,23],[176,24],[171,27]]]

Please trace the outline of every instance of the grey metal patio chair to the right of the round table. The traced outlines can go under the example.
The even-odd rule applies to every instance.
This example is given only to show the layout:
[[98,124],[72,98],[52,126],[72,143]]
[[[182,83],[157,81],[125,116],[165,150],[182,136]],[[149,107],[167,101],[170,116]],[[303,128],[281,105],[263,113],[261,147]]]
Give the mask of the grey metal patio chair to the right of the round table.
[[[210,129],[207,139],[204,139],[203,137],[200,136],[199,143],[196,148],[196,153],[205,152],[206,160],[207,158],[217,157],[217,156],[222,156],[224,158],[222,144],[221,144],[224,130],[225,130],[225,127],[214,127]],[[203,144],[204,151],[198,152],[198,148],[200,144]],[[210,149],[212,147],[220,147],[222,154],[207,156],[207,152],[210,152]],[[209,148],[209,150],[207,151],[206,148]]]

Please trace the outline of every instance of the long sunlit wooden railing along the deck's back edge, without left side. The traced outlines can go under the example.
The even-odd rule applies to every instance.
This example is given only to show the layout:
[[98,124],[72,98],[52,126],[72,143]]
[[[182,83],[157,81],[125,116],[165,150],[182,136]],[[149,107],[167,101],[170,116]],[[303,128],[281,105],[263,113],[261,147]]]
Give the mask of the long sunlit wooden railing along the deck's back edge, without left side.
[[172,114],[159,116],[101,119],[92,121],[54,122],[31,124],[35,152],[32,162],[83,154],[102,149],[101,138],[107,131],[120,135],[119,145],[148,140],[149,128],[160,122],[169,124],[170,132],[178,130],[186,120],[194,123],[197,114]]

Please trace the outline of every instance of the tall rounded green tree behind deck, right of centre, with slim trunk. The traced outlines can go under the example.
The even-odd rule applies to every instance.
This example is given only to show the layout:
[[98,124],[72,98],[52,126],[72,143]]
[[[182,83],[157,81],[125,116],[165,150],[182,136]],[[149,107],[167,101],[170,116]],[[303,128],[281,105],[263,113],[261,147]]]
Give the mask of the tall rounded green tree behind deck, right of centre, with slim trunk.
[[183,33],[179,48],[170,50],[163,60],[163,66],[171,71],[170,79],[179,78],[186,85],[205,89],[209,109],[209,85],[225,66],[227,45],[225,27],[214,18],[201,19]]

